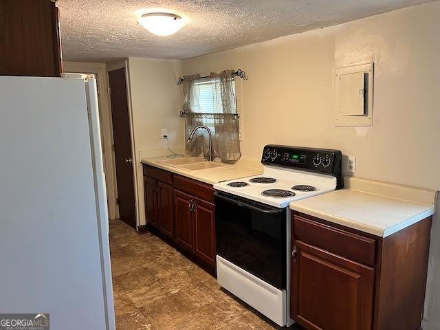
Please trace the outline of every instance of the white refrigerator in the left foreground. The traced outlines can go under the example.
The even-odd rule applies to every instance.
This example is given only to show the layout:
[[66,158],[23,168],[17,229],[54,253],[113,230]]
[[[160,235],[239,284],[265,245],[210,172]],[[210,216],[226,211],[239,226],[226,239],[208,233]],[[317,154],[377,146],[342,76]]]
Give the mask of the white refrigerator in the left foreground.
[[96,80],[0,76],[0,313],[115,329]]

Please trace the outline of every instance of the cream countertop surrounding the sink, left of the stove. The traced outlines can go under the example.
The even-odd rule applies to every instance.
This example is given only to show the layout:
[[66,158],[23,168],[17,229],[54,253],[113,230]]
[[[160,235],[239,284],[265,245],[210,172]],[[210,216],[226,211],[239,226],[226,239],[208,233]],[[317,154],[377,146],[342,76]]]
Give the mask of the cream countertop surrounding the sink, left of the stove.
[[210,168],[207,170],[184,170],[174,166],[159,163],[163,160],[167,160],[166,156],[162,157],[146,157],[142,158],[143,164],[162,168],[184,177],[190,177],[197,181],[205,182],[206,184],[217,184],[221,181],[239,179],[240,177],[250,177],[252,175],[260,175],[263,173],[263,164],[259,159],[242,157],[235,164],[230,166],[223,166],[219,168]]

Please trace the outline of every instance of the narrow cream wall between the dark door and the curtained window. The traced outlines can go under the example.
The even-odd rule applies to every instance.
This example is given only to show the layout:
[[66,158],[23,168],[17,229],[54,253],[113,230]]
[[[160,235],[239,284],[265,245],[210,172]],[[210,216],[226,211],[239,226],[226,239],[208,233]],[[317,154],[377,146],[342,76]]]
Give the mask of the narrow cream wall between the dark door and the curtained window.
[[166,154],[161,129],[168,130],[171,148],[184,145],[184,120],[178,115],[183,91],[176,85],[181,75],[181,61],[129,58],[139,224],[145,223],[141,154]]

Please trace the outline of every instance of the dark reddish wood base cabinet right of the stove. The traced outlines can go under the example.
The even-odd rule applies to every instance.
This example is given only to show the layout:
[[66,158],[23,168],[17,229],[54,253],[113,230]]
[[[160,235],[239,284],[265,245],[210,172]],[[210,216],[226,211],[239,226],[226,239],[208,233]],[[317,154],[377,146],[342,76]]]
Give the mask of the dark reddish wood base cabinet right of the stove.
[[292,212],[290,314],[309,330],[419,330],[431,218],[386,238]]

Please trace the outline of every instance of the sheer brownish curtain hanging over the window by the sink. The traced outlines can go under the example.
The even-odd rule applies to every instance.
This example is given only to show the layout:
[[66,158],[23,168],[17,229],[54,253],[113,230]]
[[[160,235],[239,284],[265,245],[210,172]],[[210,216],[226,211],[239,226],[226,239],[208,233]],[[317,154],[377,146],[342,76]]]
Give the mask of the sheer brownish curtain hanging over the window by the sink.
[[[201,113],[199,104],[199,75],[184,77],[184,111],[186,115],[186,137],[199,125],[208,126],[212,132],[212,153],[223,162],[240,159],[239,118],[236,115],[236,98],[232,87],[232,70],[210,74],[212,103],[221,104],[222,113]],[[192,142],[186,142],[190,155],[208,153],[208,132],[199,129]]]

